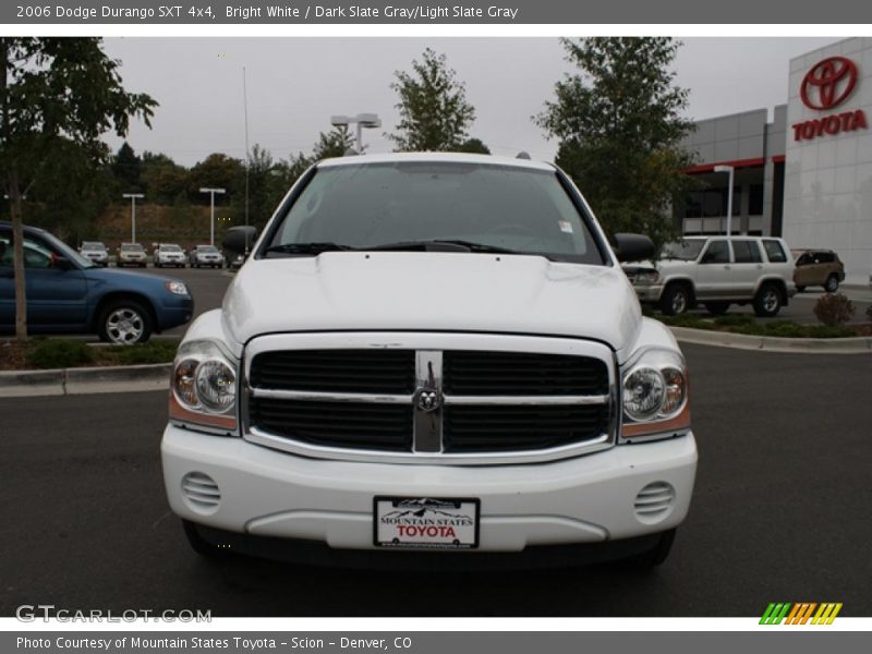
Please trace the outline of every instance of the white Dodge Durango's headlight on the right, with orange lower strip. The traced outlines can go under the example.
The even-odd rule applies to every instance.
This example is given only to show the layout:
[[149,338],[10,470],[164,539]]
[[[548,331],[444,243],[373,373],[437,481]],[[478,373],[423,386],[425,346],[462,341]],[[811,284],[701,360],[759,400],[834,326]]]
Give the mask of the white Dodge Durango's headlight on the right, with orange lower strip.
[[688,372],[680,353],[645,350],[621,375],[621,437],[673,436],[690,429]]

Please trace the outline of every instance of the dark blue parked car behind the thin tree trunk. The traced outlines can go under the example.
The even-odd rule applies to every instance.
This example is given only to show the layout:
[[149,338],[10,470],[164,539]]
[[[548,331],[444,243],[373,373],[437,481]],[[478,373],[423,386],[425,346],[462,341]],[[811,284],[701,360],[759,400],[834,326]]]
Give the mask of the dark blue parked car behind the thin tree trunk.
[[[96,334],[135,343],[191,319],[194,300],[175,279],[98,267],[34,227],[24,228],[27,329],[32,334]],[[0,334],[15,330],[12,227],[0,221]]]

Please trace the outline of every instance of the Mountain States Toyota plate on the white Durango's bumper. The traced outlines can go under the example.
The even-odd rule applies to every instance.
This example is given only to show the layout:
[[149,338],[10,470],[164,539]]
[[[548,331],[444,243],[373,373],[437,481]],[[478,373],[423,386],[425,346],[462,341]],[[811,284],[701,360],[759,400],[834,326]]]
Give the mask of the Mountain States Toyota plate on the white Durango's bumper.
[[375,544],[380,547],[474,549],[480,501],[474,498],[376,497]]

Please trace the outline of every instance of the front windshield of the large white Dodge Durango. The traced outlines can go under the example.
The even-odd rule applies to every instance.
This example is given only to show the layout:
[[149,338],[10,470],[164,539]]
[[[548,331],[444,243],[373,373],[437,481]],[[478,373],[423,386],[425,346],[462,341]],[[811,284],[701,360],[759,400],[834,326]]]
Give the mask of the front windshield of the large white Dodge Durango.
[[458,252],[501,249],[557,261],[604,263],[553,171],[455,161],[318,169],[280,219],[267,243],[271,249],[267,256],[288,256],[292,249],[281,247],[296,243],[401,250],[404,244],[432,241],[472,245],[461,245]]

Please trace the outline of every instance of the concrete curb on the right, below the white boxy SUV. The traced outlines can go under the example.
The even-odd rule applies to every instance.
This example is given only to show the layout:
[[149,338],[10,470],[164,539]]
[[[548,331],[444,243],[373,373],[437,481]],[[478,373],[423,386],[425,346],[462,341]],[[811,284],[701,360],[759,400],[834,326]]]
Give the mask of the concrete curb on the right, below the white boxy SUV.
[[872,353],[872,338],[776,338],[691,329],[690,327],[669,327],[675,337],[685,343],[736,348],[739,350],[761,350],[764,352],[789,352],[807,354],[869,354]]

